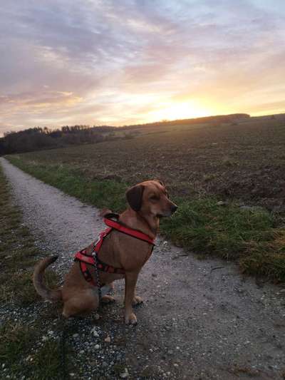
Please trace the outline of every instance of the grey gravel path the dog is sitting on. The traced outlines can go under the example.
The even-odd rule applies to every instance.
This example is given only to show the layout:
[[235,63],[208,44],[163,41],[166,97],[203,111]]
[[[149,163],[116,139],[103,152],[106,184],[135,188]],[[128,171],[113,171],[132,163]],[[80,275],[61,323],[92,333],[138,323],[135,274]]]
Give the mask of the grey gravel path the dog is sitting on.
[[[45,250],[60,255],[56,269],[64,272],[73,252],[102,229],[98,210],[3,158],[1,164],[24,221]],[[123,326],[122,283],[116,287],[118,302],[105,307],[98,322],[99,338],[90,333],[94,322],[78,322],[72,344],[92,359],[82,379],[117,379],[124,360],[130,379],[284,379],[284,289],[257,285],[232,263],[200,261],[163,240],[157,243],[138,282],[145,299],[136,310],[138,326]],[[100,339],[100,355],[94,339]]]

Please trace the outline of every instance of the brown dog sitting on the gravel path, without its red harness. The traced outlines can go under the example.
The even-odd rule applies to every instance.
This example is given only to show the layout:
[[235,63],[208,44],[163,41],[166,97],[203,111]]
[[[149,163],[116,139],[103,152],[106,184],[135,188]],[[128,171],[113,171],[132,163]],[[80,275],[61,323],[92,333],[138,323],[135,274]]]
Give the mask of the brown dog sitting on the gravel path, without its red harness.
[[[167,194],[162,182],[149,180],[133,186],[126,192],[130,208],[119,216],[119,222],[132,229],[145,233],[152,239],[157,235],[160,217],[169,217],[177,210]],[[89,255],[93,245],[86,248]],[[99,271],[101,284],[108,284],[109,288],[116,279],[125,278],[125,323],[136,324],[137,318],[133,312],[132,304],[140,304],[142,299],[135,295],[140,269],[147,262],[152,253],[152,245],[138,240],[133,236],[125,235],[118,230],[113,230],[105,237],[100,248],[99,258],[113,267],[123,268],[125,274],[111,274]],[[78,262],[74,262],[70,272],[66,274],[65,282],[61,289],[51,290],[43,283],[43,272],[52,262],[55,256],[41,260],[33,273],[33,284],[38,294],[44,299],[56,301],[63,300],[63,316],[70,317],[76,314],[93,312],[98,307],[98,288],[84,279]],[[95,277],[95,269],[88,265],[92,277]],[[104,295],[102,302],[112,302],[110,295]]]

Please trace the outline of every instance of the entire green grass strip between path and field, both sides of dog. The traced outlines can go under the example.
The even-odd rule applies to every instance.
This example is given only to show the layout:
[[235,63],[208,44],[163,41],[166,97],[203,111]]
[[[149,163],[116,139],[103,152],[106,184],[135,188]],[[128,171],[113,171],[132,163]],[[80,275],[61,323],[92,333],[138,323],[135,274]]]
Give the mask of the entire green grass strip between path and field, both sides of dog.
[[[48,165],[19,156],[9,160],[27,173],[89,202],[120,212],[128,183],[91,180],[68,165]],[[217,205],[215,197],[175,199],[179,210],[162,220],[161,232],[172,242],[202,255],[236,260],[242,272],[285,282],[285,230],[280,217],[261,207],[242,209],[232,201]]]

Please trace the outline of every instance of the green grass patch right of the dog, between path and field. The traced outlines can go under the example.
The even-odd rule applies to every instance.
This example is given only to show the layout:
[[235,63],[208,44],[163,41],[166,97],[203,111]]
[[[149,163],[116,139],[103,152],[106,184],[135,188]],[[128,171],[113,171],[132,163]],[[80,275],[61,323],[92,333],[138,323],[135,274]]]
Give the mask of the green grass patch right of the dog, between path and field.
[[187,250],[237,260],[242,272],[285,282],[285,230],[261,207],[242,209],[234,202],[181,200],[179,210],[161,225],[161,232]]

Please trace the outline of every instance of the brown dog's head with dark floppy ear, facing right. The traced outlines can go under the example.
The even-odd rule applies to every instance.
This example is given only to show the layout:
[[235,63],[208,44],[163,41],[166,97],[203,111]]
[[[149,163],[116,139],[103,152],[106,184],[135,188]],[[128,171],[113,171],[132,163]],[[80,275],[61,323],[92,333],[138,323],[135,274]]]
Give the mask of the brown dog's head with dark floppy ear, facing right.
[[169,217],[178,208],[160,180],[139,183],[126,192],[126,197],[130,207],[142,215]]

